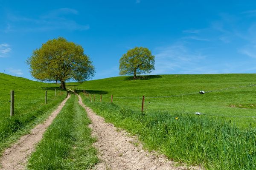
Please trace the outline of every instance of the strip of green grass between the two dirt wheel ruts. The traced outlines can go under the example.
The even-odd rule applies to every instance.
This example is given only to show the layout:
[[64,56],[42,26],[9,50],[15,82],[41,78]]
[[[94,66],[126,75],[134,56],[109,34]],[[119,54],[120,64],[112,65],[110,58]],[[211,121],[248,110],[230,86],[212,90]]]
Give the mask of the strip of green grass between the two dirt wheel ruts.
[[29,159],[31,170],[87,170],[99,159],[91,145],[95,139],[87,126],[90,120],[74,94],[44,133]]

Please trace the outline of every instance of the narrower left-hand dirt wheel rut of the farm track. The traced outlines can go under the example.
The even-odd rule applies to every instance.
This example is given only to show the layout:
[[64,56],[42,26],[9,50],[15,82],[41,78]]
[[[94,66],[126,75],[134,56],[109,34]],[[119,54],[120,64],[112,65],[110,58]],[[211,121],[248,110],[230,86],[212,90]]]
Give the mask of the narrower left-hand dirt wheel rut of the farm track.
[[26,168],[29,155],[35,150],[35,146],[42,139],[45,130],[51,125],[52,121],[69,98],[70,94],[61,102],[58,108],[52,112],[43,124],[37,125],[29,134],[22,136],[12,147],[5,150],[3,156],[0,158],[0,164],[2,165],[2,168],[0,167],[0,169],[23,170]]

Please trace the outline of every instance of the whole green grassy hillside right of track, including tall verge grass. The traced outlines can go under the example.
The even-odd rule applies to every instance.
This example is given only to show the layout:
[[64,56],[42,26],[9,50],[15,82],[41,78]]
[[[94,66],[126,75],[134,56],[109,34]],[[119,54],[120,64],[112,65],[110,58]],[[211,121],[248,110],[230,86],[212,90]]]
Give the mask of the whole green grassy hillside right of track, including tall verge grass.
[[[86,105],[107,122],[138,136],[148,150],[206,170],[254,170],[255,78],[256,74],[158,75],[68,85],[96,94],[94,102],[94,95],[91,101],[90,95],[79,91]],[[199,94],[201,90],[208,93]],[[143,95],[145,111],[141,112]]]

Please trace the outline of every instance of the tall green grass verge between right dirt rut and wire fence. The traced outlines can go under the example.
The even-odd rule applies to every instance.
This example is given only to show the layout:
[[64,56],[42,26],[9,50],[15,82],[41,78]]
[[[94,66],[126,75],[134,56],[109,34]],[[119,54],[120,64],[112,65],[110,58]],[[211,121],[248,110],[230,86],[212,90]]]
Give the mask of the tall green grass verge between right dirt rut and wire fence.
[[256,130],[225,119],[172,112],[141,112],[107,102],[83,102],[107,122],[137,135],[148,150],[207,170],[256,170]]

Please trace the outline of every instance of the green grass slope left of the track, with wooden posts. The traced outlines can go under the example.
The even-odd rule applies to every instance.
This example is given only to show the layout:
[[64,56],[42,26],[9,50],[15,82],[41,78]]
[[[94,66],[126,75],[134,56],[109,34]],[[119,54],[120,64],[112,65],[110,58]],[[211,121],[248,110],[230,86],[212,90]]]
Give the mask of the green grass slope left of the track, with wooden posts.
[[[58,85],[35,82],[0,73],[0,152],[12,142],[43,121],[67,96],[58,91]],[[15,115],[10,116],[10,91],[15,91]],[[45,104],[45,91],[48,93]]]

